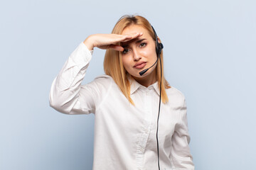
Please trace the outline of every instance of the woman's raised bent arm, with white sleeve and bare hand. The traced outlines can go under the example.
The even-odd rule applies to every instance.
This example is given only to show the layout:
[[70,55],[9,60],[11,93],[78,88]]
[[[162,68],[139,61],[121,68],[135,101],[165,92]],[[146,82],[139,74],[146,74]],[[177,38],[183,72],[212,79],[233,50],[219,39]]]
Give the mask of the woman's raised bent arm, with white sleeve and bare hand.
[[82,79],[92,58],[90,50],[94,47],[101,49],[112,48],[124,50],[116,45],[117,42],[126,42],[141,36],[142,33],[131,35],[95,34],[81,42],[65,62],[58,76],[50,88],[50,106],[66,114],[95,113],[95,103],[107,91],[106,79],[95,79],[90,84],[81,86]]

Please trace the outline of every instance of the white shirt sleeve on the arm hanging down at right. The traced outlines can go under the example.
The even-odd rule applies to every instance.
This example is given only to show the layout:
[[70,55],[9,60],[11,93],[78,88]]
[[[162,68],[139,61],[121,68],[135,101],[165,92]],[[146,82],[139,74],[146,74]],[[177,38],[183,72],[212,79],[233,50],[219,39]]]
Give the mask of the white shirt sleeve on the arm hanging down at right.
[[193,157],[188,146],[190,137],[188,135],[186,100],[184,98],[181,107],[181,121],[176,125],[174,135],[171,139],[171,159],[175,169],[194,170]]

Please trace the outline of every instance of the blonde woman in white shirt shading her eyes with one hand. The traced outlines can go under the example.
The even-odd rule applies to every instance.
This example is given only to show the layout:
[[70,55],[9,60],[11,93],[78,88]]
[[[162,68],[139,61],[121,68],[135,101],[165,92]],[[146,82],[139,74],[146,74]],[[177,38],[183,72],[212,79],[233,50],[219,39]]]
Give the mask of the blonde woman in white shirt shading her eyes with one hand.
[[[123,16],[112,34],[81,42],[53,81],[50,106],[66,114],[95,113],[95,170],[194,169],[186,101],[164,79],[163,64],[154,64],[157,42],[146,18]],[[105,74],[81,85],[94,47],[107,50]]]

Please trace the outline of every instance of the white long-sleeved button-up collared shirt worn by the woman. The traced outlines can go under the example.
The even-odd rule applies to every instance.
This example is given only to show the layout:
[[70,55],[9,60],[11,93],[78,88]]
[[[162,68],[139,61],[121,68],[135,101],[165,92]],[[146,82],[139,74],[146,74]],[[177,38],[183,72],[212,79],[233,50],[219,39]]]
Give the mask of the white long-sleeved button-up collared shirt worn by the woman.
[[[81,85],[92,58],[83,42],[72,52],[50,89],[50,106],[66,114],[95,113],[94,170],[156,170],[157,82],[149,87],[130,79],[133,106],[112,77]],[[186,101],[174,87],[161,103],[159,157],[162,170],[194,169],[188,143]]]

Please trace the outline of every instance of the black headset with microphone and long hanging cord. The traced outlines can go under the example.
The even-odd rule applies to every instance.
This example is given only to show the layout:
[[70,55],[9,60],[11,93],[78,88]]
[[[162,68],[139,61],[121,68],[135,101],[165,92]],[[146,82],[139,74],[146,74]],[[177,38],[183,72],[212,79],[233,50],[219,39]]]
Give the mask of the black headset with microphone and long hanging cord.
[[[161,77],[162,77],[162,67],[161,67],[161,51],[162,49],[164,48],[164,45],[162,43],[159,43],[158,42],[158,38],[157,38],[157,35],[156,35],[156,31],[154,30],[154,27],[151,26],[152,29],[153,29],[153,32],[154,32],[154,35],[155,35],[155,38],[156,38],[156,55],[157,55],[157,59],[156,59],[156,62],[158,61],[158,59],[160,60],[160,68],[161,68]],[[156,64],[156,62],[154,64]],[[151,67],[154,66],[151,65]],[[143,75],[146,71],[148,71],[151,67],[147,68],[147,69],[144,69],[142,70],[142,72],[139,72],[139,75]],[[159,128],[159,114],[160,114],[160,107],[161,107],[161,78],[160,78],[160,95],[159,95],[159,113],[158,113],[158,116],[157,116],[157,128],[156,128],[156,142],[157,142],[157,160],[158,160],[158,166],[159,166],[159,170],[160,170],[160,163],[159,163],[159,141],[158,141],[158,128]]]

